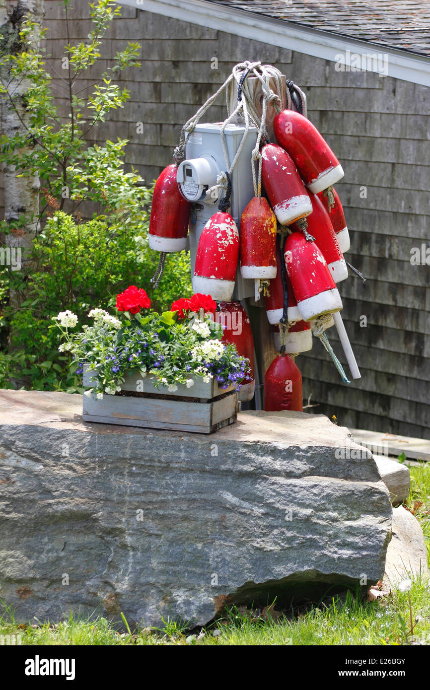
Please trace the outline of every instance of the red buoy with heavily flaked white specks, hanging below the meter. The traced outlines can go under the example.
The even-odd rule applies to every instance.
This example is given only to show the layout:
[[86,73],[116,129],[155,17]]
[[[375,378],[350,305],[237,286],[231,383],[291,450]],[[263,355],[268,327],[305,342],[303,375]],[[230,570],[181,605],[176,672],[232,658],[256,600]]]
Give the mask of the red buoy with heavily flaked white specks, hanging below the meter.
[[200,235],[195,257],[193,291],[230,302],[239,259],[239,232],[229,213],[218,212]]

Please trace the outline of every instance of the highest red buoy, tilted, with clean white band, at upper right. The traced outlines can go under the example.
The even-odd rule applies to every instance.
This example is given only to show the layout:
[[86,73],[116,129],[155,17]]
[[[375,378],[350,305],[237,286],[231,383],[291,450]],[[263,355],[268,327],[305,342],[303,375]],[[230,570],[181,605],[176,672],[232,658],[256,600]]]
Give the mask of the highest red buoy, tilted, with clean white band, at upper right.
[[294,110],[282,110],[273,122],[276,141],[289,152],[304,184],[313,194],[344,176],[330,146],[309,119]]

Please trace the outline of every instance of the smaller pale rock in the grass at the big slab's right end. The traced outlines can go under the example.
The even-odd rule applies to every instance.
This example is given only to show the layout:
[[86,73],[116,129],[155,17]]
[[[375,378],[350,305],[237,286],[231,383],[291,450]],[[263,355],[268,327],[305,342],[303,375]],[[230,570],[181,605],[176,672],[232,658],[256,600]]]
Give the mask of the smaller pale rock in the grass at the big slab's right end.
[[382,589],[391,591],[399,582],[413,576],[429,577],[427,549],[420,523],[399,506],[393,510],[393,537],[387,549]]

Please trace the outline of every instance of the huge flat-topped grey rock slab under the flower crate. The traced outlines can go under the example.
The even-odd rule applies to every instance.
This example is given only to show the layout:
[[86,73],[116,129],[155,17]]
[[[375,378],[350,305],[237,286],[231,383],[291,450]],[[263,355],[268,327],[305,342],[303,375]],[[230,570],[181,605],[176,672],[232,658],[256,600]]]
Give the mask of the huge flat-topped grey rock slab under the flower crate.
[[17,618],[204,624],[226,602],[382,578],[389,492],[369,451],[338,459],[358,449],[346,428],[248,412],[203,436],[84,423],[81,404],[0,391],[0,597]]

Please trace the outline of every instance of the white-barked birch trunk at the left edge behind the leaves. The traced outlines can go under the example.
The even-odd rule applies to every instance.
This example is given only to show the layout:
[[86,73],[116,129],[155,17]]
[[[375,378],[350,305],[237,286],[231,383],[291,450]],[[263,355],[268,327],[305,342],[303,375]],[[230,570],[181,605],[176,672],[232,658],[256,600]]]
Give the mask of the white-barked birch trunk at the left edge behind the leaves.
[[[37,23],[35,30],[28,37],[28,42],[39,46],[41,21],[44,14],[44,0],[19,0],[17,5],[10,6],[6,0],[0,0],[0,55],[10,55],[26,49],[21,42],[19,32],[26,17]],[[25,95],[28,89],[26,80],[11,81],[10,74],[1,75],[3,83],[8,83],[8,91],[13,95],[13,101],[8,97],[1,97],[1,133],[12,137],[17,131],[24,133],[30,112],[26,109]],[[30,149],[30,147],[29,147]],[[6,246],[21,248],[21,275],[27,277],[32,270],[30,262],[30,247],[37,230],[39,216],[39,177],[17,177],[12,165],[3,166],[5,220],[8,223],[19,221],[21,216],[26,221],[20,225],[18,231],[6,235]],[[16,250],[17,251],[17,250]],[[19,307],[20,298],[17,294],[10,295],[10,304]]]

